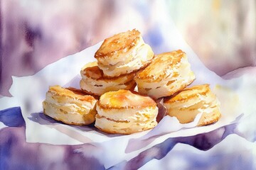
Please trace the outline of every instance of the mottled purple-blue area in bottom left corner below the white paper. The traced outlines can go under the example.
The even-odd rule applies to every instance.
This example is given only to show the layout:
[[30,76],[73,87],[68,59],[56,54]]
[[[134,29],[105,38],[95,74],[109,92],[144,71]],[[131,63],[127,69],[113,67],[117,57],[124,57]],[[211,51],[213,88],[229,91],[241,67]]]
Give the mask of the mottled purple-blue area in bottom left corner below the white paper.
[[98,152],[90,144],[47,145],[27,143],[25,127],[0,130],[0,169],[105,169],[95,157],[76,149]]

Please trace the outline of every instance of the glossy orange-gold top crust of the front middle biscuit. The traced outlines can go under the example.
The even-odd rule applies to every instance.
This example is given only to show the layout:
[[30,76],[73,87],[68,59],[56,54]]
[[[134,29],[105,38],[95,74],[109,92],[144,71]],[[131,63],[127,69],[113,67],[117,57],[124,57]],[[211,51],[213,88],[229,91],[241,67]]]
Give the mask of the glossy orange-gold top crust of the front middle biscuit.
[[134,94],[128,90],[110,91],[102,96],[98,101],[101,108],[146,108],[156,107],[156,102],[148,97]]

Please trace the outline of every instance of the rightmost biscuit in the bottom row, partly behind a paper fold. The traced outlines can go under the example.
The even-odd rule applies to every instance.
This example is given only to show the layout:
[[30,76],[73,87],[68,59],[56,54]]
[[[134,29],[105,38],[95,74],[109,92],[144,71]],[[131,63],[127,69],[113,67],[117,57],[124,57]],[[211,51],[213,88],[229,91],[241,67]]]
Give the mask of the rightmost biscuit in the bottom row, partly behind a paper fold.
[[202,113],[198,126],[215,123],[220,119],[220,102],[208,84],[192,86],[174,97],[164,98],[167,114],[178,118],[180,123],[190,123]]

